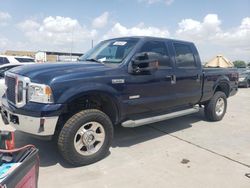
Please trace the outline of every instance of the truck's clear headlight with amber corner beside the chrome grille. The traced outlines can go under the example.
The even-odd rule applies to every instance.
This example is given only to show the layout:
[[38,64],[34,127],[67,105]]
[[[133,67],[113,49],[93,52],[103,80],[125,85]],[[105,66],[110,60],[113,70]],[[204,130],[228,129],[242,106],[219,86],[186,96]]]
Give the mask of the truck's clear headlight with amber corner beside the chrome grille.
[[53,103],[52,90],[44,84],[30,83],[28,87],[28,101],[38,103]]

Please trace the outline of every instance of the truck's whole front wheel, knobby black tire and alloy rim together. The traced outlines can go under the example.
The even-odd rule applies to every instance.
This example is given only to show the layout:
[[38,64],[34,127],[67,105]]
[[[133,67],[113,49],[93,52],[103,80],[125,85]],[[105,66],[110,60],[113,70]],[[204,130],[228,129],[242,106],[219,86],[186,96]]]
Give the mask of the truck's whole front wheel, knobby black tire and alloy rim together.
[[83,110],[73,115],[58,137],[58,149],[74,166],[88,165],[103,159],[113,139],[113,125],[100,110]]

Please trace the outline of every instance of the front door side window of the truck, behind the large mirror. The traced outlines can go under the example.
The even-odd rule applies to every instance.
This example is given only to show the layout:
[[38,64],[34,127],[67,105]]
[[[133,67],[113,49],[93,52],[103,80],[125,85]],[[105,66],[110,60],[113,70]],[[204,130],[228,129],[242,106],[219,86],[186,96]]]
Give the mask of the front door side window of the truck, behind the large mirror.
[[172,67],[168,50],[162,41],[148,41],[142,45],[140,52],[153,52],[157,54],[160,67]]

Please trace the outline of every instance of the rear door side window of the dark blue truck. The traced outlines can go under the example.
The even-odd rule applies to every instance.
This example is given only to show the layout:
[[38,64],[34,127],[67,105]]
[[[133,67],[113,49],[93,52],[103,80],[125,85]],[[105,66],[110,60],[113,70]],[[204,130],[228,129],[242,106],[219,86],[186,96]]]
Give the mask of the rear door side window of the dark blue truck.
[[177,67],[196,67],[194,55],[189,45],[174,43],[174,49],[176,53],[176,66]]

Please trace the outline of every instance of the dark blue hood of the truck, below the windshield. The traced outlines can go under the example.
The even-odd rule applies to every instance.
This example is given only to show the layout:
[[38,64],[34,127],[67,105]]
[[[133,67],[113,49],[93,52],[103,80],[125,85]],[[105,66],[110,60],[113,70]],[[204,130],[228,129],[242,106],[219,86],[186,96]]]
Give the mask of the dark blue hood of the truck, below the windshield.
[[10,72],[26,76],[32,82],[49,83],[51,80],[61,77],[76,77],[102,72],[110,67],[94,62],[65,62],[65,63],[44,63],[25,65],[13,68]]

